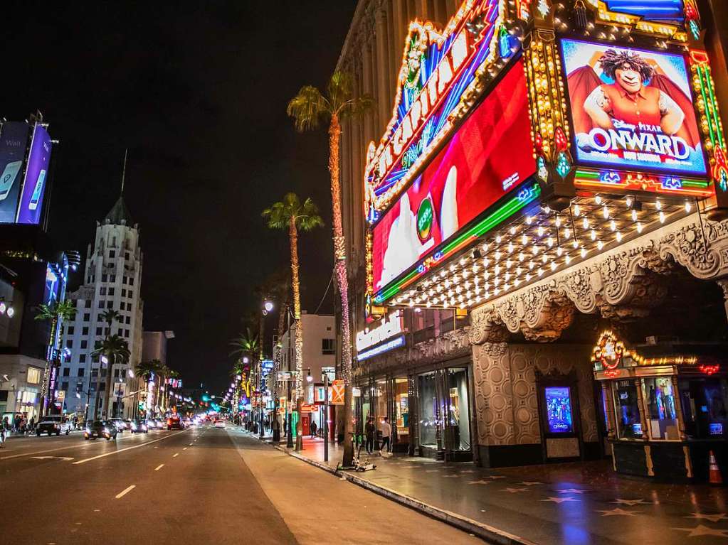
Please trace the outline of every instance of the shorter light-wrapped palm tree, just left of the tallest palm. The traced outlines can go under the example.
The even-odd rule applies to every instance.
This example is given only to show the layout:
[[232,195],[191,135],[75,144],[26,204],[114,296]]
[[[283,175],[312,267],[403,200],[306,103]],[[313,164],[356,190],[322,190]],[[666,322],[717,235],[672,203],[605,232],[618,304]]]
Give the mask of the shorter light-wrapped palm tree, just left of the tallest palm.
[[288,229],[290,237],[290,273],[293,285],[293,320],[296,323],[296,411],[298,411],[298,425],[296,426],[296,450],[303,446],[303,432],[301,424],[301,405],[304,403],[303,365],[304,365],[304,328],[301,324],[301,283],[298,279],[298,232],[310,231],[323,226],[318,208],[311,200],[301,203],[296,193],[286,193],[283,200],[263,211],[263,217],[268,219],[271,229]]

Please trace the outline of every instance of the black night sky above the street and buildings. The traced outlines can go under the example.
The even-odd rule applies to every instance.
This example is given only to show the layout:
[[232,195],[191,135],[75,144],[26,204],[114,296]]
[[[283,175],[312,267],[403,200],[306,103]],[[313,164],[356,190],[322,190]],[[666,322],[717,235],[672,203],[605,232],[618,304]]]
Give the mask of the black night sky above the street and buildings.
[[[175,331],[169,364],[188,385],[226,384],[228,342],[257,306],[253,287],[288,267],[287,235],[269,231],[261,211],[289,190],[312,196],[326,223],[301,240],[304,309],[324,294],[326,135],[296,134],[285,106],[301,85],[325,85],[355,4],[3,1],[0,116],[41,110],[60,140],[50,234],[85,256],[129,148],[144,328]],[[332,304],[330,294],[320,312]]]

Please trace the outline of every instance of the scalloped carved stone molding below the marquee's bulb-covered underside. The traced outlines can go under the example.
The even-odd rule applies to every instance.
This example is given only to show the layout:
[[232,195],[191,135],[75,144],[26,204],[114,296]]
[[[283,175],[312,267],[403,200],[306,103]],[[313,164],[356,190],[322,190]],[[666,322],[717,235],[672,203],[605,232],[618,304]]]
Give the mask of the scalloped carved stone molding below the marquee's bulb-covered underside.
[[662,275],[678,268],[702,280],[728,278],[728,222],[705,222],[694,213],[496,299],[472,311],[470,339],[507,340],[505,328],[529,340],[554,341],[576,310],[617,321],[643,318],[667,294]]

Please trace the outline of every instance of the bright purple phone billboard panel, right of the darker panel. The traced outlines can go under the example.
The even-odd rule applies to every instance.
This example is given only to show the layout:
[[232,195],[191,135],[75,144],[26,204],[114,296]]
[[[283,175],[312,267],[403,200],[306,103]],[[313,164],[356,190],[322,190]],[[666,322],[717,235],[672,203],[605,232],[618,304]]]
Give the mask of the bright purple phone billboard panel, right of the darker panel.
[[41,219],[51,146],[50,134],[44,126],[36,124],[31,153],[28,156],[28,169],[25,171],[23,195],[20,197],[20,209],[17,211],[18,223],[37,224]]

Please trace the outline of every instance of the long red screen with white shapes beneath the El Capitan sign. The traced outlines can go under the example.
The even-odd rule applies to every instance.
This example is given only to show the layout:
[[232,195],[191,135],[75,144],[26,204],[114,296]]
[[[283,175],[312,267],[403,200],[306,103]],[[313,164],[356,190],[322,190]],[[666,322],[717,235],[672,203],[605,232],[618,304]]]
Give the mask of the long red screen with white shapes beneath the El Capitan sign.
[[534,174],[528,112],[519,60],[373,227],[375,291]]

